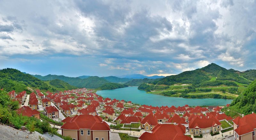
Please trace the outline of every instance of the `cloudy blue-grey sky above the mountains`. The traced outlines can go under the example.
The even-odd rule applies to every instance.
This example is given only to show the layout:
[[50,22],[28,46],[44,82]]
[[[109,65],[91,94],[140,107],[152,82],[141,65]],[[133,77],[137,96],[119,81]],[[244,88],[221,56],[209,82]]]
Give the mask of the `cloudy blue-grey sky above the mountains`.
[[0,0],[0,69],[78,77],[256,69],[255,0]]

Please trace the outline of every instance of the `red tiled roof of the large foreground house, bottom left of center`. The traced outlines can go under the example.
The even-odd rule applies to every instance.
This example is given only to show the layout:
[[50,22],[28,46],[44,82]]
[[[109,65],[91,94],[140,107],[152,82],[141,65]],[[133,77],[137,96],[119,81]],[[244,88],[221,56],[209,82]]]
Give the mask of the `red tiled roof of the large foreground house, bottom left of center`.
[[62,125],[61,129],[67,130],[79,130],[79,129],[91,129],[91,130],[108,130],[110,128],[106,122],[102,121],[98,115],[76,115],[72,118],[66,118],[63,120],[66,122]]

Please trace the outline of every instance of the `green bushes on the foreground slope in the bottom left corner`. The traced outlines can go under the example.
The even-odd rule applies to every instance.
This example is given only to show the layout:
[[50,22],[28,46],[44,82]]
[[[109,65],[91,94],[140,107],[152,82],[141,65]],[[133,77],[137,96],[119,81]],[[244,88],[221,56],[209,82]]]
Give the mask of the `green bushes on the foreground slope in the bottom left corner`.
[[27,117],[18,115],[15,109],[18,108],[18,103],[13,102],[6,91],[0,91],[0,122],[6,125],[10,125],[16,129],[21,129],[21,126],[25,126],[30,133],[37,131],[41,134],[49,132],[60,136],[65,140],[72,140],[70,137],[61,136],[58,134],[57,129],[53,129],[51,125],[46,121],[40,121],[35,117]]

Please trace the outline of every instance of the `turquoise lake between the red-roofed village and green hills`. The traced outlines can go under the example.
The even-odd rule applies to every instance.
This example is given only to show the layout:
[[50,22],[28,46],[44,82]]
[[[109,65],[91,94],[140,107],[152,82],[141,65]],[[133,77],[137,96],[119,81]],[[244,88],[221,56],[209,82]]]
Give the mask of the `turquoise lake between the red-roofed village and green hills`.
[[133,103],[141,105],[152,105],[152,106],[184,106],[188,104],[189,106],[219,106],[230,104],[232,99],[186,99],[178,97],[167,97],[156,94],[149,94],[145,91],[138,90],[138,87],[125,87],[118,88],[115,90],[101,90],[97,91],[98,95],[104,98],[118,99],[125,101],[132,101]]

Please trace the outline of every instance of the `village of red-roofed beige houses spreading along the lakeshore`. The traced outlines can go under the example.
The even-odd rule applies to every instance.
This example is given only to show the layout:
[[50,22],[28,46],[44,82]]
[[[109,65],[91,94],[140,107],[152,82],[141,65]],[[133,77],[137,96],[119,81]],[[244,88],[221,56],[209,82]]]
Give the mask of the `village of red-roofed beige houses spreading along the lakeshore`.
[[219,106],[138,105],[102,98],[86,88],[58,93],[12,91],[9,96],[19,101],[18,114],[45,120],[59,129],[62,136],[73,140],[115,140],[120,139],[120,134],[139,140],[255,139],[256,115],[253,112],[231,118]]

